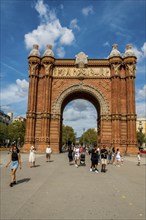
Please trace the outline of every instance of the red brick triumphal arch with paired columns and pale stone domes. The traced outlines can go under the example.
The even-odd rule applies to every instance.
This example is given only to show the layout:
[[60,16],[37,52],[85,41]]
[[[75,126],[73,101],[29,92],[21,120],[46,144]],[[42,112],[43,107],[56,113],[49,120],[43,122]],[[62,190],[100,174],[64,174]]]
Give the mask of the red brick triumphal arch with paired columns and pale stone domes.
[[114,44],[107,59],[89,59],[83,52],[75,59],[55,59],[50,45],[42,56],[38,45],[33,45],[28,63],[24,151],[35,145],[44,152],[50,143],[59,152],[63,110],[70,101],[82,98],[97,110],[98,143],[136,152],[136,57],[131,45],[122,56]]

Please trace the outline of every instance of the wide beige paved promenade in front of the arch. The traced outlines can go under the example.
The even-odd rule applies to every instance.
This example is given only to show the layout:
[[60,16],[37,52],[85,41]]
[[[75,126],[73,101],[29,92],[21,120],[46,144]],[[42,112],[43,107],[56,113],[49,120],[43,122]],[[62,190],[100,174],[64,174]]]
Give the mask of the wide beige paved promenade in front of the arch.
[[[146,158],[137,166],[136,157],[125,157],[124,165],[108,165],[106,173],[86,166],[69,166],[67,154],[37,155],[30,168],[28,154],[22,154],[17,185],[9,187],[7,152],[0,152],[1,220],[144,220],[146,206]],[[100,165],[99,165],[100,169]]]

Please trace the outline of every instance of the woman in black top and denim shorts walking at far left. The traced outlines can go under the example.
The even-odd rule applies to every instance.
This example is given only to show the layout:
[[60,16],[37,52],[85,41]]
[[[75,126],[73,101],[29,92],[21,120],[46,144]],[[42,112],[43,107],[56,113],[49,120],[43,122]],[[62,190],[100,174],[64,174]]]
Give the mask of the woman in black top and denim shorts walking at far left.
[[11,169],[11,183],[10,187],[16,184],[16,171],[18,169],[18,166],[20,166],[21,169],[21,157],[20,157],[20,151],[18,151],[16,146],[12,147],[10,160],[8,161],[6,167],[10,164]]

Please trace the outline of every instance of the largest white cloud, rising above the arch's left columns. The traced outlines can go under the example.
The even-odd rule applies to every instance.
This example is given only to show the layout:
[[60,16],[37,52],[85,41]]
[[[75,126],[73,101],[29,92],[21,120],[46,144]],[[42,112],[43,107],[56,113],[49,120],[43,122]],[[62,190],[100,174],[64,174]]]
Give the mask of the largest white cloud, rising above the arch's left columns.
[[52,44],[55,48],[62,48],[74,42],[75,36],[72,30],[62,27],[55,10],[51,10],[43,0],[36,3],[35,9],[39,13],[40,25],[32,32],[25,34],[24,40],[27,49],[31,49],[33,44],[38,44],[40,50],[45,49],[47,44]]

